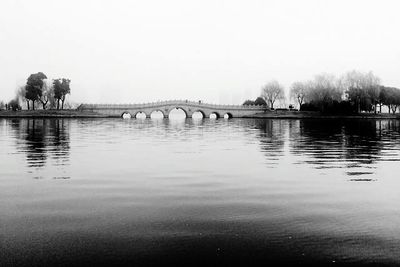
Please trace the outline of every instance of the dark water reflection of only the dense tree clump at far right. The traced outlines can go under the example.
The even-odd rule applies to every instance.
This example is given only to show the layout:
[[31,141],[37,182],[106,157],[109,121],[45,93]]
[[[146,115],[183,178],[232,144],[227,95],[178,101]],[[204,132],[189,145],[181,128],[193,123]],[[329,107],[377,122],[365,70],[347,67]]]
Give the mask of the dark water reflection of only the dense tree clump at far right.
[[395,132],[399,122],[393,120],[300,120],[299,131],[291,138],[291,153],[315,168],[363,167],[371,171],[348,174],[371,174],[382,153],[390,153],[398,144]]

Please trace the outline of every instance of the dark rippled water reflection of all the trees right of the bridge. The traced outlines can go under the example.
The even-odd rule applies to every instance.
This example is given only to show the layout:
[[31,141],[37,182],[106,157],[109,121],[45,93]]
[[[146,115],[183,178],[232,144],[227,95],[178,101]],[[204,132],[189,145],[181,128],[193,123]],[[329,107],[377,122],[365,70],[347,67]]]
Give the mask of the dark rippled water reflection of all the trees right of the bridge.
[[257,139],[269,167],[293,156],[294,164],[340,168],[348,176],[359,176],[373,174],[381,160],[399,160],[398,120],[260,119],[241,126],[259,130]]

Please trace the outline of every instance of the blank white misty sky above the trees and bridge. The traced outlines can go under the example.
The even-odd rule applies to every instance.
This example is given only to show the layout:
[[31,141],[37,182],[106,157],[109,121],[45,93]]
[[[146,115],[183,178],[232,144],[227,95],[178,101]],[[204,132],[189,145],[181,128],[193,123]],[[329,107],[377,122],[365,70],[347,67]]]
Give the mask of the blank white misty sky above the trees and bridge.
[[242,103],[277,79],[374,71],[400,87],[397,0],[1,0],[0,100],[31,73],[71,100]]

